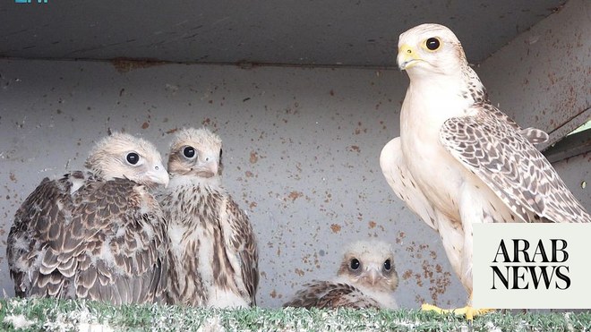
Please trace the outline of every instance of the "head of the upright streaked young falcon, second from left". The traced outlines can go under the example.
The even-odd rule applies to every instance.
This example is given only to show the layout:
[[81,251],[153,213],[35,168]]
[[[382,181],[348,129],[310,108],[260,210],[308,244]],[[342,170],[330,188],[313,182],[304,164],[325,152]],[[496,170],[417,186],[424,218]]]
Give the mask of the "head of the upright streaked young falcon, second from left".
[[170,144],[168,173],[219,178],[223,168],[221,145],[219,136],[206,128],[181,130]]

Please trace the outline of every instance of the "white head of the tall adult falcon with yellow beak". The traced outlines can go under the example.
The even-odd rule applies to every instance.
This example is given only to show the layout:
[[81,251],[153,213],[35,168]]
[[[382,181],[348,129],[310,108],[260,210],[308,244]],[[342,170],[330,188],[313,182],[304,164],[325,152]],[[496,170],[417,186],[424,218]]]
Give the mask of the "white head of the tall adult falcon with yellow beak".
[[425,23],[398,38],[398,68],[408,76],[421,73],[457,75],[467,67],[456,35],[440,24]]

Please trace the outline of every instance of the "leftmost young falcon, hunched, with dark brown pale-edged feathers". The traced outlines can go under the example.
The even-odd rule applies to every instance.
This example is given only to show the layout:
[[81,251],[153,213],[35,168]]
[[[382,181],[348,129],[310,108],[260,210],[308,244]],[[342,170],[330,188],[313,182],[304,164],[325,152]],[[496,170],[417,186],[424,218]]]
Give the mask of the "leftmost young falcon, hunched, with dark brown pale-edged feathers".
[[150,142],[100,140],[87,172],[43,179],[16,211],[7,257],[17,296],[164,300],[166,224],[150,189],[168,175]]

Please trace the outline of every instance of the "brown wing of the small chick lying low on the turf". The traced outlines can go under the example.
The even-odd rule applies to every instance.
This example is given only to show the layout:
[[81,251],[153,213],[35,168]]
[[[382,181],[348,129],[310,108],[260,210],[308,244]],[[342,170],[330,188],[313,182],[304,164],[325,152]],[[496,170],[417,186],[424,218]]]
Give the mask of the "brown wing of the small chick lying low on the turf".
[[304,289],[298,291],[294,298],[283,304],[284,307],[310,308],[375,308],[380,309],[380,303],[365,295],[353,285],[335,283],[331,281],[313,281],[304,284]]

